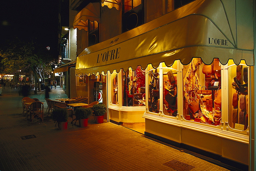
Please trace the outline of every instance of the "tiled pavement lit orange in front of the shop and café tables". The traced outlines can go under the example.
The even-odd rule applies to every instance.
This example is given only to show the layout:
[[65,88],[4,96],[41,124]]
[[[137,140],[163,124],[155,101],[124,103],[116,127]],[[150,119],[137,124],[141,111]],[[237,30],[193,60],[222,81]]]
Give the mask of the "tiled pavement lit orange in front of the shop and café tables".
[[[67,97],[59,86],[51,90],[52,100]],[[43,92],[29,97],[44,102],[46,109]],[[195,166],[191,170],[227,170],[110,122],[95,124],[92,118],[88,127],[69,123],[63,131],[46,116],[44,122],[31,123],[22,114],[21,99],[18,90],[6,87],[0,96],[1,171],[174,170],[163,165],[173,159]],[[25,135],[36,138],[22,140]]]

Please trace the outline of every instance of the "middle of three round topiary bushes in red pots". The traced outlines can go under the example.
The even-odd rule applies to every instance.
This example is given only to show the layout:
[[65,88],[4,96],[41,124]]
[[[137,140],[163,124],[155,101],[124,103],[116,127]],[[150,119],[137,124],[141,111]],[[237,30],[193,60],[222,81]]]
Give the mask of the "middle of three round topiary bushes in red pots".
[[88,117],[92,114],[92,111],[90,108],[77,108],[75,115],[76,119],[79,121],[80,127],[86,127],[88,126]]

